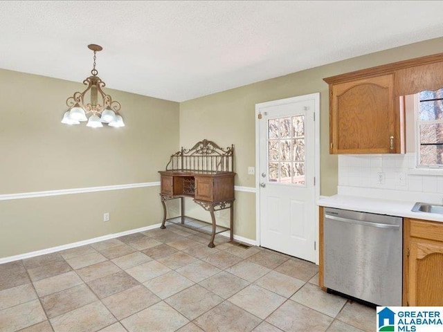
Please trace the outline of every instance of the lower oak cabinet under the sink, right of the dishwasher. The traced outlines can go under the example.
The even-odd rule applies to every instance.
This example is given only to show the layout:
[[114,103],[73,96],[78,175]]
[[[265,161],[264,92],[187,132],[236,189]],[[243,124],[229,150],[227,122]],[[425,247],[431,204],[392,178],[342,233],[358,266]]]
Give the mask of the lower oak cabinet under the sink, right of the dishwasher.
[[404,306],[443,306],[443,223],[404,219]]

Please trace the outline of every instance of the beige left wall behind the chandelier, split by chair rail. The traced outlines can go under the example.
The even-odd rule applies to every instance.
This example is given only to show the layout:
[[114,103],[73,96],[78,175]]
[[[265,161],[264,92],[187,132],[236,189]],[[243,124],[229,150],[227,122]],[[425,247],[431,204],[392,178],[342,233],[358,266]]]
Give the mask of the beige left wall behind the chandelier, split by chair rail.
[[[60,123],[81,83],[0,70],[0,194],[159,181],[179,104],[105,88],[126,127]],[[111,220],[103,221],[110,212]],[[159,187],[0,201],[0,257],[161,222]]]

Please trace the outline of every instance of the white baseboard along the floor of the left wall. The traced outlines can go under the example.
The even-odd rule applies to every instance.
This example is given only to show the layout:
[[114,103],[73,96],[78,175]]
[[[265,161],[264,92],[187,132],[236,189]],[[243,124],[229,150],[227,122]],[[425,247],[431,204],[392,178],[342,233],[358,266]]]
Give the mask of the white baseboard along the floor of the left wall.
[[105,240],[109,240],[109,239],[115,239],[116,237],[123,237],[125,235],[143,232],[145,230],[153,230],[154,228],[159,228],[160,226],[161,226],[161,223],[156,223],[154,225],[150,225],[150,226],[146,226],[146,227],[142,227],[142,228],[136,228],[134,230],[125,230],[125,232],[108,234],[108,235],[104,235],[102,237],[94,237],[93,239],[87,239],[84,241],[78,241],[78,242],[73,242],[73,243],[69,243],[69,244],[64,244],[62,246],[57,246],[57,247],[52,247],[52,248],[47,248],[47,249],[42,249],[42,250],[36,250],[36,251],[32,251],[32,252],[26,252],[26,254],[4,257],[4,258],[0,258],[0,264],[8,263],[10,261],[19,261],[20,259],[36,257],[36,256],[40,256],[40,255],[51,254],[52,252],[57,252],[57,251],[61,251],[61,250],[71,249],[71,248],[77,248],[80,246],[86,246],[87,244],[105,241]]

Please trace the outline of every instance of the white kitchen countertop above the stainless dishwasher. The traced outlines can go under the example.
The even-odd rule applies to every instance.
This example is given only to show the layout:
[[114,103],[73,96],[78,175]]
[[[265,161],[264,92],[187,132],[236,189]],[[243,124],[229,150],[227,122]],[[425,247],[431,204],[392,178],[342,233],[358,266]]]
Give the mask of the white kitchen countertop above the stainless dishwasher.
[[337,208],[443,222],[443,214],[412,212],[411,209],[415,203],[416,202],[370,199],[366,197],[346,196],[340,194],[325,197],[317,201],[318,205],[326,208]]

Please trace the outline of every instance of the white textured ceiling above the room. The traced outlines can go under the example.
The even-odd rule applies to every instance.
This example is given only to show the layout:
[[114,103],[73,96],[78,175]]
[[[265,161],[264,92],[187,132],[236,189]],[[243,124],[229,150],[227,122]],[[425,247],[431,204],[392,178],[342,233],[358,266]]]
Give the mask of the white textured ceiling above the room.
[[443,1],[0,1],[0,68],[181,102],[443,36]]

